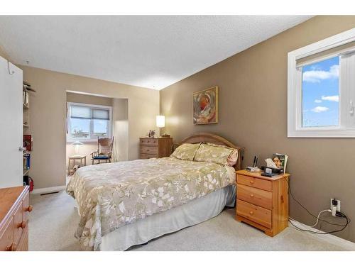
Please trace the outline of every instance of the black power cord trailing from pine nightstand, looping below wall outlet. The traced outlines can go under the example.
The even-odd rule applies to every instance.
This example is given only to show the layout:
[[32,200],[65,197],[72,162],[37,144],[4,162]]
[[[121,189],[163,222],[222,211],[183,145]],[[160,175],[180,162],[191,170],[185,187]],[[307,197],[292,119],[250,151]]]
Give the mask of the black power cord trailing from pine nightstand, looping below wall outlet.
[[[323,211],[320,211],[320,213],[318,214],[318,216],[315,216],[314,214],[312,214],[310,211],[308,211],[308,209],[307,209],[305,206],[303,206],[303,205],[300,203],[300,201],[297,201],[297,199],[295,199],[295,196],[293,196],[293,193],[292,193],[292,190],[291,190],[291,187],[290,187],[290,182],[288,182],[288,179],[287,179],[286,177],[284,177],[284,178],[285,178],[286,182],[288,183],[288,191],[290,192],[290,195],[291,195],[291,197],[293,198],[293,200],[294,200],[295,202],[297,202],[297,204],[299,204],[303,209],[305,209],[305,211],[307,211],[308,214],[310,214],[311,216],[317,218],[317,221],[315,222],[315,224],[313,224],[313,225],[310,226],[310,227],[313,227],[313,228],[314,228],[315,226],[317,226],[317,224],[318,224],[319,221],[322,221],[322,222],[324,222],[324,223],[329,223],[329,224],[331,224],[332,226],[342,226],[341,229],[335,230],[335,231],[330,231],[330,232],[316,232],[316,231],[306,230],[306,229],[302,229],[302,228],[299,228],[299,227],[295,226],[295,224],[292,222],[292,220],[294,220],[294,219],[293,219],[293,218],[289,218],[288,220],[290,221],[290,223],[291,223],[297,230],[299,230],[299,231],[304,231],[304,232],[310,232],[310,233],[317,233],[317,234],[325,235],[325,234],[329,234],[329,233],[341,232],[341,231],[343,231],[343,230],[346,228],[346,226],[349,225],[349,223],[351,222],[350,218],[348,218],[345,214],[343,214],[343,213],[340,212],[340,211],[337,211],[337,212],[336,212],[336,216],[337,216],[337,217],[340,217],[340,218],[346,218],[346,224],[330,223],[329,221],[325,221],[325,220],[321,219],[321,218],[320,218],[320,215],[321,215],[322,213],[324,213],[325,211],[332,212],[332,211],[329,210],[329,209],[325,209],[325,210],[323,210]],[[294,221],[295,221],[295,220],[294,220]]]

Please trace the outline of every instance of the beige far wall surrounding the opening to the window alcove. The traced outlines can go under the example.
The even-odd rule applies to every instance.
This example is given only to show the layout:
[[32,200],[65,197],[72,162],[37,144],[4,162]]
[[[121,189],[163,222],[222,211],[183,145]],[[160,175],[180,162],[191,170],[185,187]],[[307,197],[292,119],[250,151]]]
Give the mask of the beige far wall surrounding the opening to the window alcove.
[[129,160],[138,158],[138,138],[155,128],[159,92],[99,79],[21,66],[23,80],[37,92],[31,99],[33,153],[31,177],[35,188],[65,185],[66,91],[128,99]]

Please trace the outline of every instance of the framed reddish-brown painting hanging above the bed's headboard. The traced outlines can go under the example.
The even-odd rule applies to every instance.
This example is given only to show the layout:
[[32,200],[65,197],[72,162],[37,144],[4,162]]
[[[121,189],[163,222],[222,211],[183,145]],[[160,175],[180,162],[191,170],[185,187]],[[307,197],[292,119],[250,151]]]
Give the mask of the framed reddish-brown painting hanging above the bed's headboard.
[[193,94],[193,123],[204,125],[218,123],[218,87]]

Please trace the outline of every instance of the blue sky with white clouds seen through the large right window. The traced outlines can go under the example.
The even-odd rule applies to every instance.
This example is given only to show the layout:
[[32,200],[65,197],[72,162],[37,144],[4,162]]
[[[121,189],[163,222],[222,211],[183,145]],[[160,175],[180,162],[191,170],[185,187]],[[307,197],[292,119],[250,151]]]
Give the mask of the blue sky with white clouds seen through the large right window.
[[302,67],[302,126],[339,125],[339,57]]

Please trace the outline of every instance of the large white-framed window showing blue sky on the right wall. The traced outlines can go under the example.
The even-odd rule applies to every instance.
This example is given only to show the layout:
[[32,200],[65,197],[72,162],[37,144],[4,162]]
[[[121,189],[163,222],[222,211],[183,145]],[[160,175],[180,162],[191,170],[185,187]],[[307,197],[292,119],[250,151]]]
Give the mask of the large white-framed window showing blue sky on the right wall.
[[288,137],[355,137],[355,30],[288,53]]

